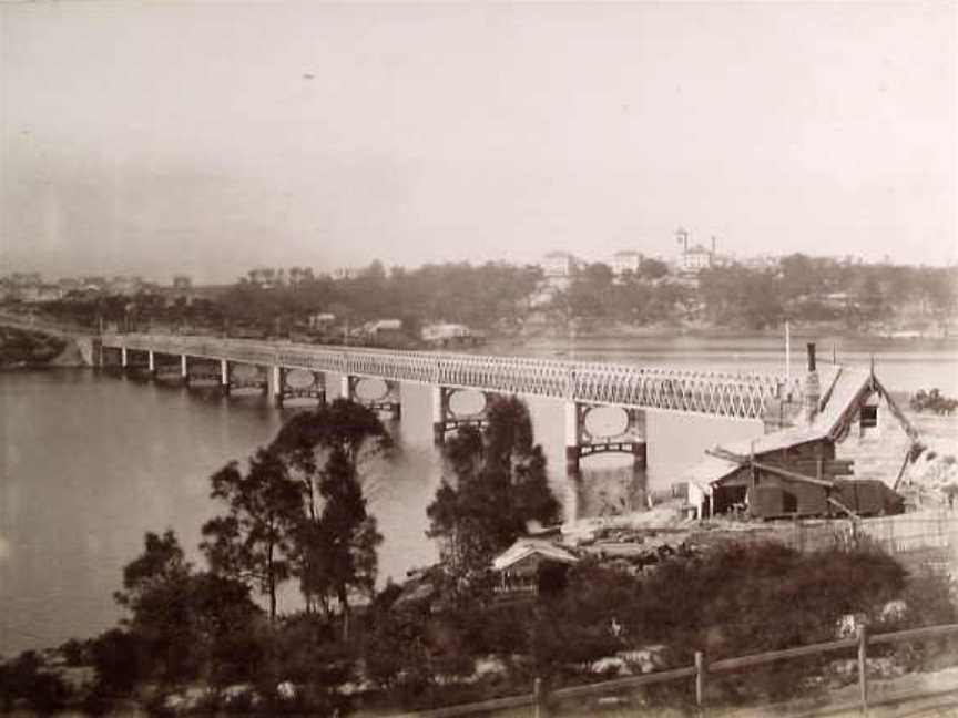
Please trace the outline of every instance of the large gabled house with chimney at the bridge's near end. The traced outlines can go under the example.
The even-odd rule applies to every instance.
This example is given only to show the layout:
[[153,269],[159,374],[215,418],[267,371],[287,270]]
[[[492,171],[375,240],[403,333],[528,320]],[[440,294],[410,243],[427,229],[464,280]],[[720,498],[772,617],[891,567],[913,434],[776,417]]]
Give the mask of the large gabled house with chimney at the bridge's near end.
[[823,387],[821,397],[813,396],[802,425],[706,452],[685,475],[689,503],[699,516],[743,512],[772,519],[904,510],[895,490],[907,460],[915,455],[917,431],[875,376],[874,366],[838,367]]

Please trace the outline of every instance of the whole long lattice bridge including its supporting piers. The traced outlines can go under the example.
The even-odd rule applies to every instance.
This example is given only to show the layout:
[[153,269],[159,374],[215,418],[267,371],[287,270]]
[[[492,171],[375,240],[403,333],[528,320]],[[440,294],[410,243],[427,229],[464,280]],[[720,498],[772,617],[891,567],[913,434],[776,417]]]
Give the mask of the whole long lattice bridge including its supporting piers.
[[[648,368],[552,358],[483,356],[431,351],[390,351],[343,346],[300,345],[216,337],[104,334],[100,362],[149,376],[215,381],[231,388],[262,388],[277,406],[288,398],[325,401],[326,375],[340,377],[339,394],[377,410],[401,413],[399,387],[424,384],[432,391],[437,443],[463,424],[483,425],[495,394],[561,400],[565,411],[565,455],[570,472],[581,458],[626,452],[645,463],[645,412],[682,412],[732,420],[763,420],[784,402],[801,403],[797,378],[692,369]],[[386,391],[364,399],[360,382],[378,379]],[[450,403],[460,391],[483,396],[482,409],[458,414]],[[614,437],[593,435],[585,418],[597,407],[618,407],[626,421]]]

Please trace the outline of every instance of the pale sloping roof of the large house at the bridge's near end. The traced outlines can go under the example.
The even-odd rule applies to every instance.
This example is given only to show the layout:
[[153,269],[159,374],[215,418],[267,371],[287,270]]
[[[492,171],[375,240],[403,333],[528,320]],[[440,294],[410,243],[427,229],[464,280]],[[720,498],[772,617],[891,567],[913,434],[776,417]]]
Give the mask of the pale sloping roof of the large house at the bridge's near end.
[[[887,389],[878,381],[874,367],[868,370],[838,367],[837,371],[832,372],[830,381],[825,382],[823,388],[818,413],[811,424],[783,429],[752,441],[716,447],[716,453],[723,455],[710,453],[692,466],[684,474],[684,479],[704,489],[741,469],[742,463],[734,461],[731,455],[761,458],[763,454],[823,439],[842,441],[848,435],[860,404],[876,392],[885,399],[908,437],[913,441],[917,440],[917,430],[901,413]],[[728,458],[725,458],[726,455]]]

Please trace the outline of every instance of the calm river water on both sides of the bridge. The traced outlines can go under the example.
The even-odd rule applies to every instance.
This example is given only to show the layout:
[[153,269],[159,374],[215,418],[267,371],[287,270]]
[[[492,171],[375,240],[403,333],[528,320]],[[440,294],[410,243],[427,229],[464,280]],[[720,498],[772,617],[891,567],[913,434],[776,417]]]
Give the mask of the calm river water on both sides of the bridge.
[[[837,342],[836,342],[837,343]],[[830,343],[822,353],[830,357]],[[767,339],[595,339],[487,346],[482,351],[604,359],[645,366],[782,371],[781,346]],[[877,357],[894,390],[939,387],[958,396],[958,346],[849,342],[846,362]],[[799,349],[794,370],[801,369]],[[330,396],[338,386],[329,378]],[[397,449],[368,468],[366,489],[386,540],[380,581],[436,558],[426,505],[439,482],[429,393],[402,387],[402,420],[390,423]],[[597,457],[578,481],[564,475],[561,407],[532,400],[537,440],[567,515],[613,513],[634,498],[620,457]],[[0,373],[0,655],[89,637],[121,613],[112,599],[145,531],[173,529],[195,561],[200,526],[217,506],[211,473],[267,443],[284,416],[259,396],[221,397],[98,375],[84,369]],[[671,423],[670,423],[671,422]],[[742,424],[664,417],[650,437],[648,484],[665,486],[701,450],[738,438]],[[694,439],[690,442],[690,437]],[[297,607],[288,587],[281,608]]]

